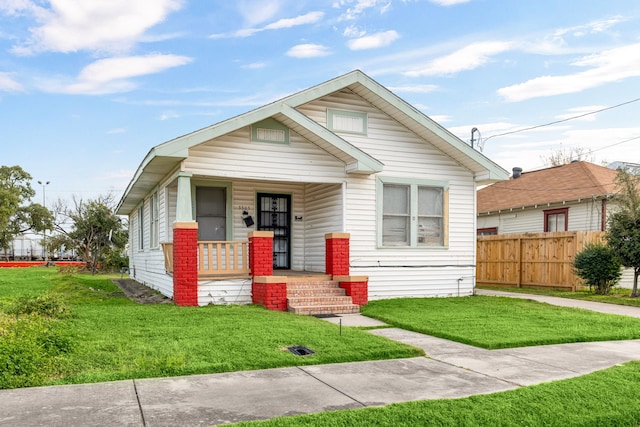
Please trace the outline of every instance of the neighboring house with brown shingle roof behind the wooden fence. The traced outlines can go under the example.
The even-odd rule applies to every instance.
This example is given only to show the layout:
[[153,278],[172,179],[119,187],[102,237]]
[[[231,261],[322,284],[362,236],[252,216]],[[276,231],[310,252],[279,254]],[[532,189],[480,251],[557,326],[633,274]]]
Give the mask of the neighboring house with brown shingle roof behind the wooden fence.
[[604,231],[615,170],[576,161],[522,172],[478,191],[478,234]]

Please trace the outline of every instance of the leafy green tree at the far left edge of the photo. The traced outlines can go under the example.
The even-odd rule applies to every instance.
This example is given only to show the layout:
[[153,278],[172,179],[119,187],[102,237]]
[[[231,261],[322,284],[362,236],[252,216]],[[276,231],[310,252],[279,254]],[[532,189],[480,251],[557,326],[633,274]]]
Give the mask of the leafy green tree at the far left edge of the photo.
[[0,166],[0,249],[6,251],[15,237],[26,231],[53,228],[53,215],[37,203],[26,205],[35,195],[31,175],[20,166]]

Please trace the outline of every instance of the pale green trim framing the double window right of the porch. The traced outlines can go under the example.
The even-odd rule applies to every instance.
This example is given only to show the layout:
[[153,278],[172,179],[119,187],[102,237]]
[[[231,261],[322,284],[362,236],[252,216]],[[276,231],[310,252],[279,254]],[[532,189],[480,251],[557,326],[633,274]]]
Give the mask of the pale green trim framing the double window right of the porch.
[[[384,228],[384,185],[405,185],[410,187],[409,243],[405,246],[385,245]],[[427,246],[418,244],[418,187],[442,189],[442,245]],[[376,245],[379,249],[446,249],[449,247],[449,182],[414,178],[378,177],[376,181]]]

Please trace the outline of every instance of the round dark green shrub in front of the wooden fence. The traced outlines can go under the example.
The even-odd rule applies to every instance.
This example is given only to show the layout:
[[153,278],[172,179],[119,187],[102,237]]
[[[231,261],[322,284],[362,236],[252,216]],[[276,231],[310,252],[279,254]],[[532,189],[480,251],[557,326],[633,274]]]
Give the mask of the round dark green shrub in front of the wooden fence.
[[591,243],[573,260],[575,273],[595,289],[599,295],[607,295],[620,280],[622,265],[611,248],[602,243]]

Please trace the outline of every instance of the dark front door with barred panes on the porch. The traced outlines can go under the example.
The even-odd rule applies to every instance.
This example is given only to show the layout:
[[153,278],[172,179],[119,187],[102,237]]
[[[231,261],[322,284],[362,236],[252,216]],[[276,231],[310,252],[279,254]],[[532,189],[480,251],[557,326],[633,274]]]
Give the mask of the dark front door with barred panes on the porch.
[[291,268],[291,196],[258,193],[258,230],[273,231],[273,268]]

